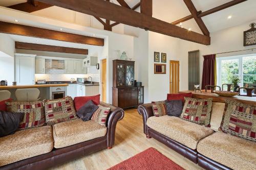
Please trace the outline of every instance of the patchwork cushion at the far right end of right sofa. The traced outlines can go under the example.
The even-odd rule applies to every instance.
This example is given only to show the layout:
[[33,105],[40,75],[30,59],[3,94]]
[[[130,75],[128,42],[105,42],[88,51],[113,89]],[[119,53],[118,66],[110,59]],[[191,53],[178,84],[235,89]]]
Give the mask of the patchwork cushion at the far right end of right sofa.
[[220,130],[256,142],[256,107],[226,100]]

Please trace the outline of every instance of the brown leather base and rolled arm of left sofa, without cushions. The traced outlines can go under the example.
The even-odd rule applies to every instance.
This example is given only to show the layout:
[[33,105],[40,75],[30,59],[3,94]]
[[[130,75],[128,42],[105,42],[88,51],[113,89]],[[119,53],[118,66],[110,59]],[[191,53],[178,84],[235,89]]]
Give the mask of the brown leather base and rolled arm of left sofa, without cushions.
[[0,169],[46,169],[105,148],[111,149],[115,142],[117,122],[123,118],[124,111],[121,108],[103,102],[100,105],[111,108],[106,122],[107,130],[105,136],[69,145],[64,148],[53,148],[49,153],[3,165],[0,166]]

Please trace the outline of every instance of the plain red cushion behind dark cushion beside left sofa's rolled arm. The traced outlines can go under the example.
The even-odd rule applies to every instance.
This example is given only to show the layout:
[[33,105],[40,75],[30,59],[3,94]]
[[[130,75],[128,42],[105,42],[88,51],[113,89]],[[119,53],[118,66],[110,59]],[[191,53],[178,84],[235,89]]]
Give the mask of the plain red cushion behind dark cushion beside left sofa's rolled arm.
[[80,97],[75,97],[74,98],[74,104],[76,111],[80,109],[84,104],[86,104],[88,101],[92,100],[95,105],[99,105],[99,98],[100,94],[98,95],[93,95],[93,96],[80,96]]

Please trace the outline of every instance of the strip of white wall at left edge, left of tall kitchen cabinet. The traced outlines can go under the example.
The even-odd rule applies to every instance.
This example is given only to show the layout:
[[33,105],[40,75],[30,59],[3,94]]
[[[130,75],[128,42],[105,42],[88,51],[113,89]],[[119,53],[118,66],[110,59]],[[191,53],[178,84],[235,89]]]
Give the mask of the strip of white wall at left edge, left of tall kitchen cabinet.
[[14,81],[14,41],[7,34],[0,34],[0,80]]

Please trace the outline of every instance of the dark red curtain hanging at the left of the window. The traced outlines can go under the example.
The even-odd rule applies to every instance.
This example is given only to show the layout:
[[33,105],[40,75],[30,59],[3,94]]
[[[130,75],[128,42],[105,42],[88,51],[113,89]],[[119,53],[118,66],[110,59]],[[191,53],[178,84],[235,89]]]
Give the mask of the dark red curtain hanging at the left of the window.
[[215,68],[215,54],[205,55],[202,75],[202,89],[205,89],[206,85],[214,85],[214,68]]

